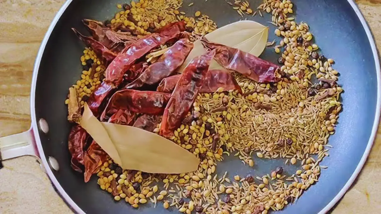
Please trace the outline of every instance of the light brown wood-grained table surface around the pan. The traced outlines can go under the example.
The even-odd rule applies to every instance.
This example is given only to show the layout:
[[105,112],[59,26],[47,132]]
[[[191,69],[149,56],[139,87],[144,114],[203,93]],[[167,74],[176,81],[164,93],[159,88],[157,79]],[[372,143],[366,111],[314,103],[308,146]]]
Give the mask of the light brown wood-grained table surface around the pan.
[[[64,0],[0,1],[0,136],[30,126],[29,90],[34,59]],[[381,0],[359,0],[381,50]],[[381,126],[365,167],[333,213],[380,213]],[[0,213],[71,213],[33,157],[4,161]],[[94,187],[96,188],[96,187]]]

